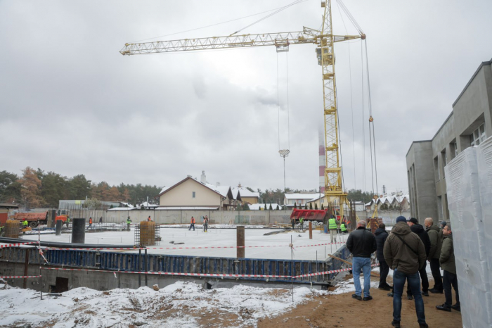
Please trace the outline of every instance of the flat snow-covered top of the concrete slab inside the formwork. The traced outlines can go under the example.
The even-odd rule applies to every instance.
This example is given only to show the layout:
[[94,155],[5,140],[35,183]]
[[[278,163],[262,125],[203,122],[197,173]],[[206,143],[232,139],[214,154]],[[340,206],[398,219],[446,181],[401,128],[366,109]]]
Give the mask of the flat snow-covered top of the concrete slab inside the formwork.
[[[201,226],[198,226],[201,228]],[[235,229],[209,229],[209,232],[203,232],[202,229],[188,231],[188,229],[167,228],[161,229],[162,241],[160,248],[173,247],[212,247],[212,246],[236,246]],[[328,254],[335,253],[343,244],[299,247],[313,244],[330,243],[330,235],[320,230],[313,231],[313,239],[309,239],[309,232],[283,232],[264,236],[265,233],[283,231],[282,229],[246,229],[245,244],[246,246],[280,246],[268,248],[246,248],[246,258],[270,258],[290,260],[291,251],[289,244],[294,245],[293,258],[296,260],[325,260]],[[339,236],[337,241],[347,241],[348,234]],[[24,236],[24,239],[37,240],[37,235]],[[41,241],[60,241],[70,242],[71,234],[54,234],[41,235]],[[174,244],[171,244],[174,241]],[[130,232],[93,232],[86,233],[86,244],[134,244],[134,230]],[[175,245],[176,243],[181,243]],[[153,247],[153,246],[150,246]],[[133,251],[138,252],[138,251]],[[148,253],[159,253],[182,256],[214,256],[235,258],[236,248],[208,248],[208,249],[163,249],[149,250]]]

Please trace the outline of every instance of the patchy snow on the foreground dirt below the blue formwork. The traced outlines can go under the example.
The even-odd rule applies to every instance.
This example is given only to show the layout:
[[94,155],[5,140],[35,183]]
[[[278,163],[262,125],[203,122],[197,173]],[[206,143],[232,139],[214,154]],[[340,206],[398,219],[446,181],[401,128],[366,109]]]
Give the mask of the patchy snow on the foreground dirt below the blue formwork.
[[[0,284],[0,287],[3,287]],[[176,282],[159,291],[149,287],[95,291],[77,288],[63,296],[43,296],[32,289],[0,289],[0,327],[256,327],[314,296],[328,294],[308,287],[291,290],[237,285],[203,289]]]

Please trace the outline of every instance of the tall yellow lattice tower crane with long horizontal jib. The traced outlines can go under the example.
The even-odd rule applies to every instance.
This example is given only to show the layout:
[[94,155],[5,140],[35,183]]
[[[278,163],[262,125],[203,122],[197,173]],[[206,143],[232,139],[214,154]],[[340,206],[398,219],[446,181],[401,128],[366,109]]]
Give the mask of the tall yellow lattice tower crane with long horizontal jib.
[[342,185],[342,165],[340,165],[337,86],[335,80],[335,42],[352,39],[365,39],[365,34],[335,35],[332,29],[331,1],[322,1],[324,8],[321,30],[303,27],[300,32],[278,32],[264,34],[231,34],[227,37],[204,37],[197,39],[177,39],[170,41],[127,43],[119,52],[124,56],[168,53],[176,51],[196,51],[207,49],[234,49],[252,46],[275,46],[277,52],[288,51],[293,44],[316,44],[318,64],[321,65],[323,83],[323,115],[325,126],[325,196],[330,204],[339,206],[343,217],[344,204],[348,204],[347,193]]

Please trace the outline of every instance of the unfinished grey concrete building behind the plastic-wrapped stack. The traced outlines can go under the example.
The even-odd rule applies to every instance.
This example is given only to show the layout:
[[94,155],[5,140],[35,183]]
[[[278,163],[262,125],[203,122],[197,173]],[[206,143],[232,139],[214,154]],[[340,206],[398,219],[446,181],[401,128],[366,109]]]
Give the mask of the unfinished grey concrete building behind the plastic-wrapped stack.
[[406,154],[410,213],[449,221],[446,163],[492,136],[491,61],[483,62],[453,103],[432,140],[413,141]]

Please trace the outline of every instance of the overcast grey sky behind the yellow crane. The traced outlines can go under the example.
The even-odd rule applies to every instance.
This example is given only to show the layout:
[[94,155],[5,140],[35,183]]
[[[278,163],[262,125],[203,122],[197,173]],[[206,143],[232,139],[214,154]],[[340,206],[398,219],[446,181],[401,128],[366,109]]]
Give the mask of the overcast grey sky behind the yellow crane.
[[[283,188],[278,94],[280,148],[290,148],[287,187],[317,188],[323,90],[313,44],[288,53],[119,53],[126,42],[292,1],[0,1],[0,170],[20,174],[31,166],[158,186],[205,170],[211,183]],[[411,142],[432,139],[481,61],[492,57],[492,1],[344,4],[368,36],[377,184],[406,191]],[[336,1],[332,7],[335,34],[356,34]],[[228,35],[267,14],[149,41]],[[241,34],[317,29],[322,14],[320,1],[306,0]],[[336,44],[337,89],[345,186],[370,190],[361,46]]]

